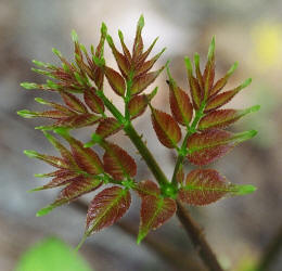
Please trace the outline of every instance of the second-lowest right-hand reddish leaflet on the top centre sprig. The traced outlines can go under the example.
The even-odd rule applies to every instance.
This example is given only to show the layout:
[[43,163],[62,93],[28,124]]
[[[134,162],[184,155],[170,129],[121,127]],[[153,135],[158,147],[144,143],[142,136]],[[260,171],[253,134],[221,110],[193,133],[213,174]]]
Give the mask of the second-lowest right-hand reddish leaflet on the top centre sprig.
[[158,77],[158,75],[163,72],[165,66],[159,68],[156,72],[152,72],[149,74],[144,74],[138,76],[133,79],[132,87],[131,87],[131,95],[136,95],[146,89],[154,80]]

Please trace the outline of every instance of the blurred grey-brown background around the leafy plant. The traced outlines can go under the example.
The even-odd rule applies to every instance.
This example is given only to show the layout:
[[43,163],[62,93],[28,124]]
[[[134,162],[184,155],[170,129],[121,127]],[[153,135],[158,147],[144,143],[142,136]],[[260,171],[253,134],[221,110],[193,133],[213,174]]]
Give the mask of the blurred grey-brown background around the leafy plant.
[[[190,208],[221,264],[227,270],[251,270],[247,268],[264,257],[282,225],[281,12],[279,0],[0,0],[0,270],[14,270],[21,255],[46,236],[57,236],[75,246],[85,229],[86,211],[73,204],[46,217],[35,217],[38,209],[54,199],[57,191],[27,193],[44,182],[34,173],[49,172],[50,168],[28,159],[23,150],[54,153],[42,133],[34,130],[44,120],[22,119],[15,114],[18,109],[39,109],[34,98],[47,96],[20,87],[22,81],[44,80],[30,72],[31,60],[57,63],[53,47],[72,60],[70,30],[76,29],[80,42],[89,48],[92,43],[97,46],[102,22],[114,39],[121,29],[127,43],[132,44],[140,14],[145,17],[145,46],[159,36],[153,53],[167,47],[158,65],[170,60],[172,76],[183,89],[188,90],[183,56],[193,57],[198,52],[204,60],[213,35],[216,35],[217,78],[235,61],[239,68],[228,87],[253,78],[253,83],[229,107],[260,104],[259,113],[247,115],[233,128],[256,129],[259,133],[213,166],[230,181],[258,189],[252,195]],[[105,50],[108,63],[115,66],[107,46]],[[168,113],[165,79],[164,73],[155,83],[159,91],[154,105]],[[111,90],[107,93],[118,99]],[[156,141],[149,117],[146,112],[137,119],[137,129],[144,133],[156,159],[171,176],[176,156]],[[82,130],[77,134],[89,140],[93,128]],[[123,133],[115,140],[128,149]],[[139,163],[140,179],[149,178],[150,172],[134,150],[128,150]],[[89,199],[91,195],[84,198]],[[93,270],[205,270],[176,218],[150,234],[148,243],[137,246],[136,236],[125,231],[138,231],[139,206],[139,199],[133,198],[121,225],[95,234],[81,248]],[[170,249],[168,255],[166,248]],[[282,270],[281,255],[268,270]]]

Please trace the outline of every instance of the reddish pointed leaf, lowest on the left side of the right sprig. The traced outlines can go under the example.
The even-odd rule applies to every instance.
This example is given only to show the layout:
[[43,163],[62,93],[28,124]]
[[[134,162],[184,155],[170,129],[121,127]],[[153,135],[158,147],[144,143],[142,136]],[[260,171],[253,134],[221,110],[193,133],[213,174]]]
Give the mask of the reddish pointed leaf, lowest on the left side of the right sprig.
[[181,139],[181,130],[170,115],[152,108],[152,124],[162,144],[169,149],[177,146]]

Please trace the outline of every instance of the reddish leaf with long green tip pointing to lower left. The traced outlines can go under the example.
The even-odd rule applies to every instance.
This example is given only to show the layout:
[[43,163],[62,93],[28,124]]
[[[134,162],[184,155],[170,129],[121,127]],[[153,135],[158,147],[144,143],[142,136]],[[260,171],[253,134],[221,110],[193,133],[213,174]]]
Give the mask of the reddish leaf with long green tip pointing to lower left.
[[93,177],[85,177],[84,179],[77,179],[70,182],[65,189],[61,191],[59,197],[54,203],[40,209],[36,214],[36,216],[37,217],[46,216],[55,207],[59,207],[66,203],[70,203],[76,198],[78,198],[79,196],[97,190],[101,185],[101,183],[102,183],[101,180],[97,180]]

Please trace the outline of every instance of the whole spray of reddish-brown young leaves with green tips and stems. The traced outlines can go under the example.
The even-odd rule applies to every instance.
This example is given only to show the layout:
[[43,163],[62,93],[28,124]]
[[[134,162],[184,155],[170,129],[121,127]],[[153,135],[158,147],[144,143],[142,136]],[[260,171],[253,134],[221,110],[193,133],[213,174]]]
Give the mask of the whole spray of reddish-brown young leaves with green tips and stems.
[[[38,103],[50,106],[51,109],[18,112],[18,115],[26,118],[46,117],[55,120],[49,126],[40,126],[36,129],[44,133],[60,152],[61,157],[25,151],[28,157],[41,159],[56,168],[50,173],[36,175],[51,178],[51,181],[34,191],[63,186],[59,197],[51,205],[39,210],[37,216],[47,215],[55,207],[103,188],[89,205],[82,242],[92,233],[120,219],[130,206],[132,192],[141,198],[141,221],[137,238],[140,243],[151,230],[157,229],[171,218],[181,202],[190,205],[207,205],[225,196],[244,195],[255,191],[253,185],[230,183],[217,170],[202,168],[256,134],[254,130],[233,133],[226,128],[244,115],[258,111],[258,105],[247,109],[219,109],[246,88],[251,79],[234,89],[223,91],[238,64],[235,63],[222,78],[215,80],[215,38],[213,38],[204,72],[200,67],[198,54],[194,55],[194,72],[190,59],[184,59],[189,95],[172,78],[168,63],[158,70],[150,72],[165,49],[148,60],[157,39],[144,50],[141,36],[143,26],[144,20],[141,16],[131,52],[125,44],[120,30],[118,36],[123,52],[116,49],[105,24],[101,27],[99,44],[97,48],[92,46],[90,52],[79,43],[76,33],[73,31],[75,61],[69,63],[60,51],[53,49],[62,66],[34,61],[43,69],[33,68],[34,72],[46,75],[51,80],[48,79],[43,85],[22,83],[25,89],[57,93],[63,101],[63,104],[59,104],[36,98]],[[119,70],[107,66],[103,54],[105,43],[110,46]],[[164,113],[152,105],[157,88],[150,93],[144,93],[164,69],[168,76],[171,114]],[[120,112],[106,96],[104,77],[113,91],[124,100],[124,112]],[[133,120],[148,107],[151,111],[152,125],[157,139],[178,155],[171,178],[165,176],[146,147],[144,139],[133,127]],[[82,143],[70,134],[73,129],[87,126],[97,126],[88,143]],[[112,134],[120,130],[124,130],[131,140],[155,179],[136,179],[134,159],[121,146],[110,140]],[[50,131],[65,140],[70,150]],[[94,151],[95,145],[104,150],[103,157]],[[184,172],[185,160],[198,168]],[[187,218],[182,217],[182,219]]]

